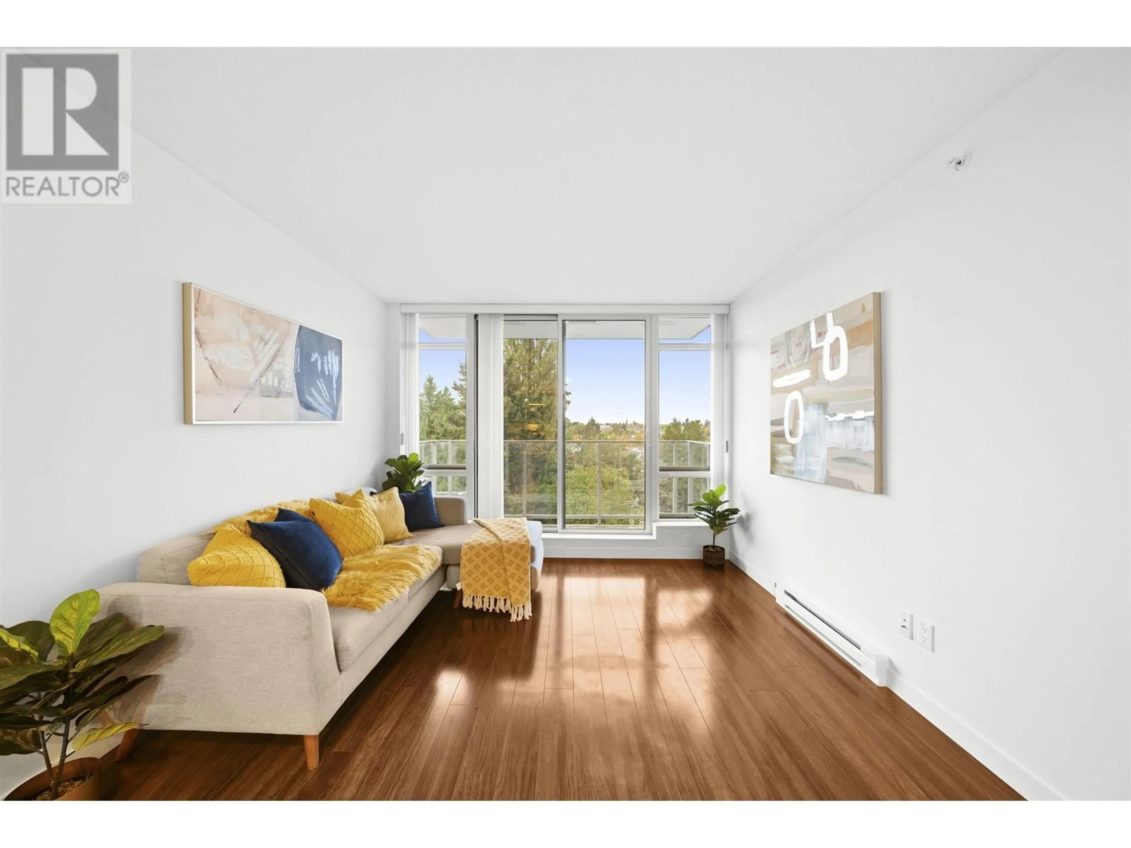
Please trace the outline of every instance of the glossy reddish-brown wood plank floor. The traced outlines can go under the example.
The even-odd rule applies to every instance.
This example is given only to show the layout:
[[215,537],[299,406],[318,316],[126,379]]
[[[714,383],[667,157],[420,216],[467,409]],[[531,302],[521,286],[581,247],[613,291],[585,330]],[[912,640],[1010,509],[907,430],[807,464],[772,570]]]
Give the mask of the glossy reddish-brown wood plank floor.
[[1017,798],[729,564],[547,561],[441,592],[321,735],[144,733],[116,798]]

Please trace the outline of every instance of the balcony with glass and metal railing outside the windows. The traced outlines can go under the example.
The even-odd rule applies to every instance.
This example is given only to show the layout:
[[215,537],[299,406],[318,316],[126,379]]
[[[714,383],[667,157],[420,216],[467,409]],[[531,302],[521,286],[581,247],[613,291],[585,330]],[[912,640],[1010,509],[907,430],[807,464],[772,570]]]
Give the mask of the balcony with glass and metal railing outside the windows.
[[[421,460],[437,493],[467,492],[467,443],[421,442]],[[566,442],[566,523],[578,527],[642,526],[645,447],[641,440]],[[558,523],[558,443],[503,442],[503,511]],[[710,487],[710,442],[659,442],[659,517],[692,518],[690,505]]]

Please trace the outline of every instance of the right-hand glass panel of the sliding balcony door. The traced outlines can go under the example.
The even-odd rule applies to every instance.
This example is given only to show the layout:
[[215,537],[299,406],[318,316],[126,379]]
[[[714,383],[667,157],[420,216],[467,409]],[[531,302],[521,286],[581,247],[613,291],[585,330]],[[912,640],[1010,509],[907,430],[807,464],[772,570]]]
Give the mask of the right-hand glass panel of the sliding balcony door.
[[646,529],[648,322],[564,319],[562,529]]

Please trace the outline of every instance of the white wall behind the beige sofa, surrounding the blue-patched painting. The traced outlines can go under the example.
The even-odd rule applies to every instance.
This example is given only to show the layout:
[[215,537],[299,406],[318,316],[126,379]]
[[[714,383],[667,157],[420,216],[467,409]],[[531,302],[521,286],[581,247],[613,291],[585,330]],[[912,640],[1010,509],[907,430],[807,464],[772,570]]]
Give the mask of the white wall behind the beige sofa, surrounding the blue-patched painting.
[[[129,206],[0,210],[6,623],[131,579],[157,542],[370,483],[385,459],[383,304],[137,136],[132,174]],[[184,280],[339,336],[344,423],[183,424]]]

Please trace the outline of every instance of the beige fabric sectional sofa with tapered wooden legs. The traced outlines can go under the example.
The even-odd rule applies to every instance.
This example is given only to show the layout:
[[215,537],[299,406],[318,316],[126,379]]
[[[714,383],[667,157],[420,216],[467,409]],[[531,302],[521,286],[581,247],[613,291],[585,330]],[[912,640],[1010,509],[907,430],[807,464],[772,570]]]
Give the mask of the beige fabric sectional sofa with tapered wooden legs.
[[[138,562],[138,582],[101,589],[102,614],[164,624],[165,638],[131,660],[155,674],[115,709],[147,729],[295,734],[318,765],[318,734],[441,588],[459,580],[459,548],[477,529],[464,501],[437,497],[444,527],[398,544],[438,548],[441,566],[380,609],[331,607],[307,589],[191,586],[188,564],[211,531],[157,545]],[[530,527],[530,586],[542,570],[542,526]],[[446,587],[447,585],[447,587]],[[455,613],[454,613],[455,614]]]

